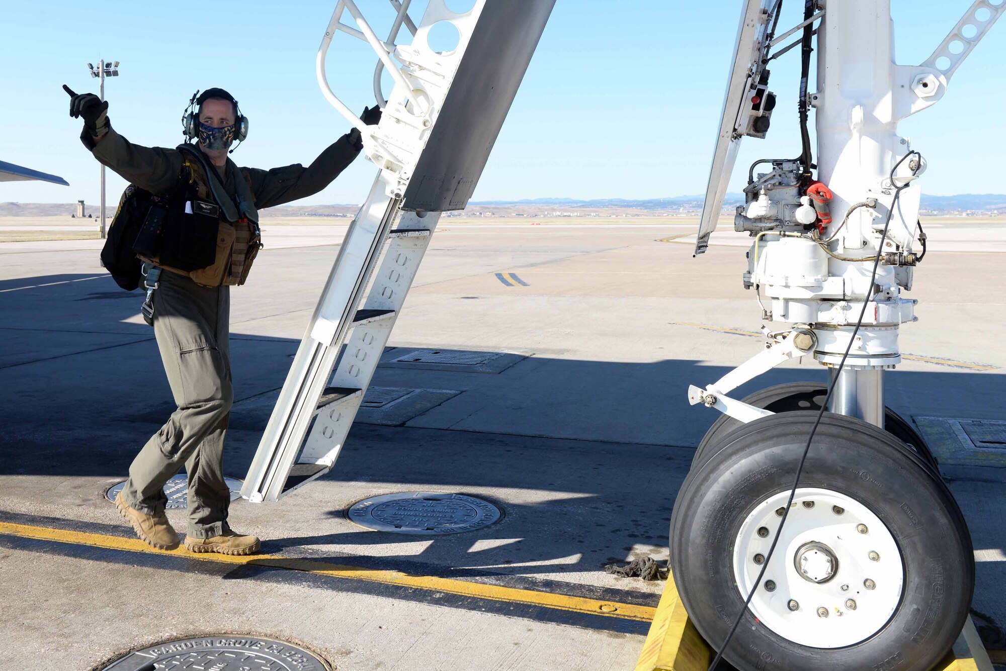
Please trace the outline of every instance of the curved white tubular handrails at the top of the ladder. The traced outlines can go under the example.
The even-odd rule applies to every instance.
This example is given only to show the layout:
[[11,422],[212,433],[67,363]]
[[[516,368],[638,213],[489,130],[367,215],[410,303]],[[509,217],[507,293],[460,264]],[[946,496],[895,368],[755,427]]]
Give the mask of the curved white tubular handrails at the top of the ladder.
[[[394,44],[390,42],[391,39],[397,34],[400,29],[402,22],[407,20],[407,25],[410,31],[413,31],[414,24],[411,19],[407,17],[405,12],[408,9],[409,2],[411,0],[404,0],[398,7],[397,16],[395,17],[394,26],[392,27],[392,34],[389,36],[389,42],[382,42],[374,34],[373,29],[367,20],[363,18],[363,14],[360,13],[359,8],[357,8],[356,3],[353,0],[339,0],[335,5],[335,11],[332,12],[332,19],[328,23],[328,29],[325,31],[325,36],[322,37],[321,45],[318,47],[318,53],[315,56],[315,74],[318,77],[318,85],[321,87],[321,92],[325,96],[332,106],[336,108],[346,120],[353,125],[361,134],[369,135],[369,131],[366,125],[360,121],[360,119],[350,109],[345,102],[339,99],[339,97],[332,91],[332,87],[328,83],[328,76],[325,72],[325,57],[328,54],[328,47],[332,44],[332,38],[335,36],[336,31],[341,30],[348,35],[352,35],[357,39],[362,39],[367,42],[370,47],[377,54],[378,63],[383,67],[387,68],[387,71],[394,78],[395,83],[399,84],[404,88],[404,90],[411,90],[412,85],[409,84],[405,77],[401,74],[401,71],[391,60],[390,52],[394,49]],[[392,2],[392,5],[394,3]],[[359,26],[359,30],[352,28],[350,26],[342,23],[342,12],[344,9],[348,9],[349,13],[356,20],[356,25]],[[414,31],[413,31],[414,34]],[[375,81],[380,82],[379,72],[375,74]],[[379,87],[378,87],[379,90]],[[422,97],[422,96],[417,96]],[[378,99],[378,103],[381,100]],[[384,101],[386,104],[386,100]]]

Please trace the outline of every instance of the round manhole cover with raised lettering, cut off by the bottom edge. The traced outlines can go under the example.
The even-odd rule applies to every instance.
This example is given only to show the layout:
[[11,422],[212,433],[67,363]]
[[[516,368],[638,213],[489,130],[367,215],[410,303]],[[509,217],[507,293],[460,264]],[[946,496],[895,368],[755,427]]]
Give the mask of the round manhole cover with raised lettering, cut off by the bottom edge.
[[286,641],[233,634],[200,636],[158,643],[131,652],[102,671],[327,671],[331,667],[304,648]]

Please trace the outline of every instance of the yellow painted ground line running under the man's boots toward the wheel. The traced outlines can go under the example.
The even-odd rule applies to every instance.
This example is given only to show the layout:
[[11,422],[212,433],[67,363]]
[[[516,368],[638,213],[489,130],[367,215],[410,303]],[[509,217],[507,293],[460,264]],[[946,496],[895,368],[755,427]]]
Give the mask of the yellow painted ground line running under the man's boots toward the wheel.
[[539,606],[542,608],[551,608],[559,611],[600,615],[605,617],[620,618],[623,620],[636,620],[639,622],[650,622],[653,620],[653,617],[657,612],[657,609],[650,606],[619,604],[608,601],[600,601],[597,599],[585,599],[583,597],[569,597],[566,595],[535,592],[532,590],[520,590],[517,588],[500,587],[497,585],[468,583],[466,581],[456,581],[449,578],[437,578],[435,576],[410,576],[398,571],[363,569],[360,567],[350,567],[332,564],[329,562],[319,562],[316,560],[281,556],[279,554],[232,556],[211,552],[190,552],[185,549],[184,546],[179,546],[178,548],[172,550],[155,549],[139,538],[123,538],[121,536],[106,535],[102,533],[68,531],[65,529],[32,526],[29,524],[0,522],[0,534],[15,535],[22,538],[36,538],[38,540],[51,540],[74,545],[104,547],[107,549],[118,549],[128,552],[168,554],[187,560],[212,562],[215,564],[285,569],[287,571],[298,571],[302,573],[314,574],[316,576],[326,576],[329,578],[363,581],[367,583],[380,583],[382,585],[394,585],[416,590],[427,590],[430,592],[443,592],[462,597],[471,597],[473,599],[525,604],[530,606]]

